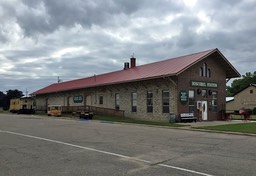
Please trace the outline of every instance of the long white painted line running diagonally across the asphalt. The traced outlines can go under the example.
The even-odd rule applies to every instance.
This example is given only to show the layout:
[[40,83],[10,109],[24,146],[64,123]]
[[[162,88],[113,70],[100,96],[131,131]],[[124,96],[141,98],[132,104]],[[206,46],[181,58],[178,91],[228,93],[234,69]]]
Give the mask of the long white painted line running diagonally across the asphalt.
[[[84,146],[75,145],[75,144],[71,144],[71,143],[61,142],[61,141],[57,141],[57,140],[53,140],[53,139],[47,139],[47,138],[32,136],[32,135],[28,135],[28,134],[16,133],[16,132],[12,132],[12,131],[0,130],[0,132],[1,133],[7,133],[7,134],[13,134],[13,135],[17,135],[17,136],[23,136],[23,137],[27,137],[27,138],[38,139],[38,140],[52,142],[52,143],[56,143],[56,144],[62,144],[62,145],[66,145],[66,146],[71,146],[71,147],[75,147],[75,148],[80,148],[80,149],[84,149],[84,150],[93,151],[93,152],[103,153],[103,154],[107,154],[107,155],[117,156],[117,157],[120,157],[120,158],[125,158],[127,160],[133,160],[133,161],[143,162],[143,163],[147,163],[147,164],[153,164],[153,162],[151,162],[151,161],[147,161],[147,160],[143,160],[143,159],[139,159],[139,158],[134,158],[134,157],[130,157],[130,156],[122,155],[122,154],[117,154],[117,153],[113,153],[113,152],[107,152],[107,151],[104,151],[104,150],[98,150],[98,149],[94,149],[94,148],[90,148],[90,147],[84,147]],[[172,168],[172,169],[180,170],[180,171],[184,171],[184,172],[189,172],[189,173],[193,173],[193,174],[197,174],[197,175],[213,176],[213,175],[206,174],[206,173],[203,173],[203,172],[198,172],[198,171],[185,169],[185,168],[181,168],[181,167],[176,167],[176,166],[171,166],[171,165],[166,165],[166,164],[156,164],[156,165],[161,166],[161,167],[166,167],[166,168]]]

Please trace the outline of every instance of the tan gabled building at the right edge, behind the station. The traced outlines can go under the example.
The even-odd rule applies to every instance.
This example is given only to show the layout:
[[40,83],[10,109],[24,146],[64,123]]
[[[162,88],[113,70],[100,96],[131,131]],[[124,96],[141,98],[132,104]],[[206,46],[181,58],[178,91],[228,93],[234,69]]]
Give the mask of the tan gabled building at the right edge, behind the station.
[[253,109],[256,107],[256,84],[250,84],[226,102],[226,110]]

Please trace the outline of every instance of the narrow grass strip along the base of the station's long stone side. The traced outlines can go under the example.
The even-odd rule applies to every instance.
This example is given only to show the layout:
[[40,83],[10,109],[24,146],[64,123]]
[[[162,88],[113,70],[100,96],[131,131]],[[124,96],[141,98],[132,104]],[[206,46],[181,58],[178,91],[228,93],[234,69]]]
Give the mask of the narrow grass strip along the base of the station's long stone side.
[[161,122],[161,121],[147,121],[147,120],[138,120],[127,117],[109,117],[109,116],[100,116],[94,115],[93,120],[101,120],[108,122],[122,122],[122,123],[134,123],[134,124],[145,124],[145,125],[156,125],[156,126],[169,126],[169,127],[182,127],[186,125],[180,125],[169,122]]

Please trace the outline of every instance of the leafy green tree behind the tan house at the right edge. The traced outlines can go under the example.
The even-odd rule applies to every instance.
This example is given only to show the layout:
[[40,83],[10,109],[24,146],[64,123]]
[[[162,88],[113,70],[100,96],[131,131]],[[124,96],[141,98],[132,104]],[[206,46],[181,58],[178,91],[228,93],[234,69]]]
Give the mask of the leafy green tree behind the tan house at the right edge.
[[254,73],[247,72],[240,79],[235,79],[231,86],[227,86],[227,96],[233,96],[237,92],[245,89],[250,84],[256,83],[256,71]]

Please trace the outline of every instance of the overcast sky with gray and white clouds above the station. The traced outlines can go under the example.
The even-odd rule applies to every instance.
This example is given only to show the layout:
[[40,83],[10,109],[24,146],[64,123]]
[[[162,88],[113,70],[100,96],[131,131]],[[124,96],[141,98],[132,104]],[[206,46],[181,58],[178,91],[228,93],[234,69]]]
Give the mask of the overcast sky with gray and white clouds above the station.
[[0,91],[218,48],[256,71],[256,0],[0,0]]

